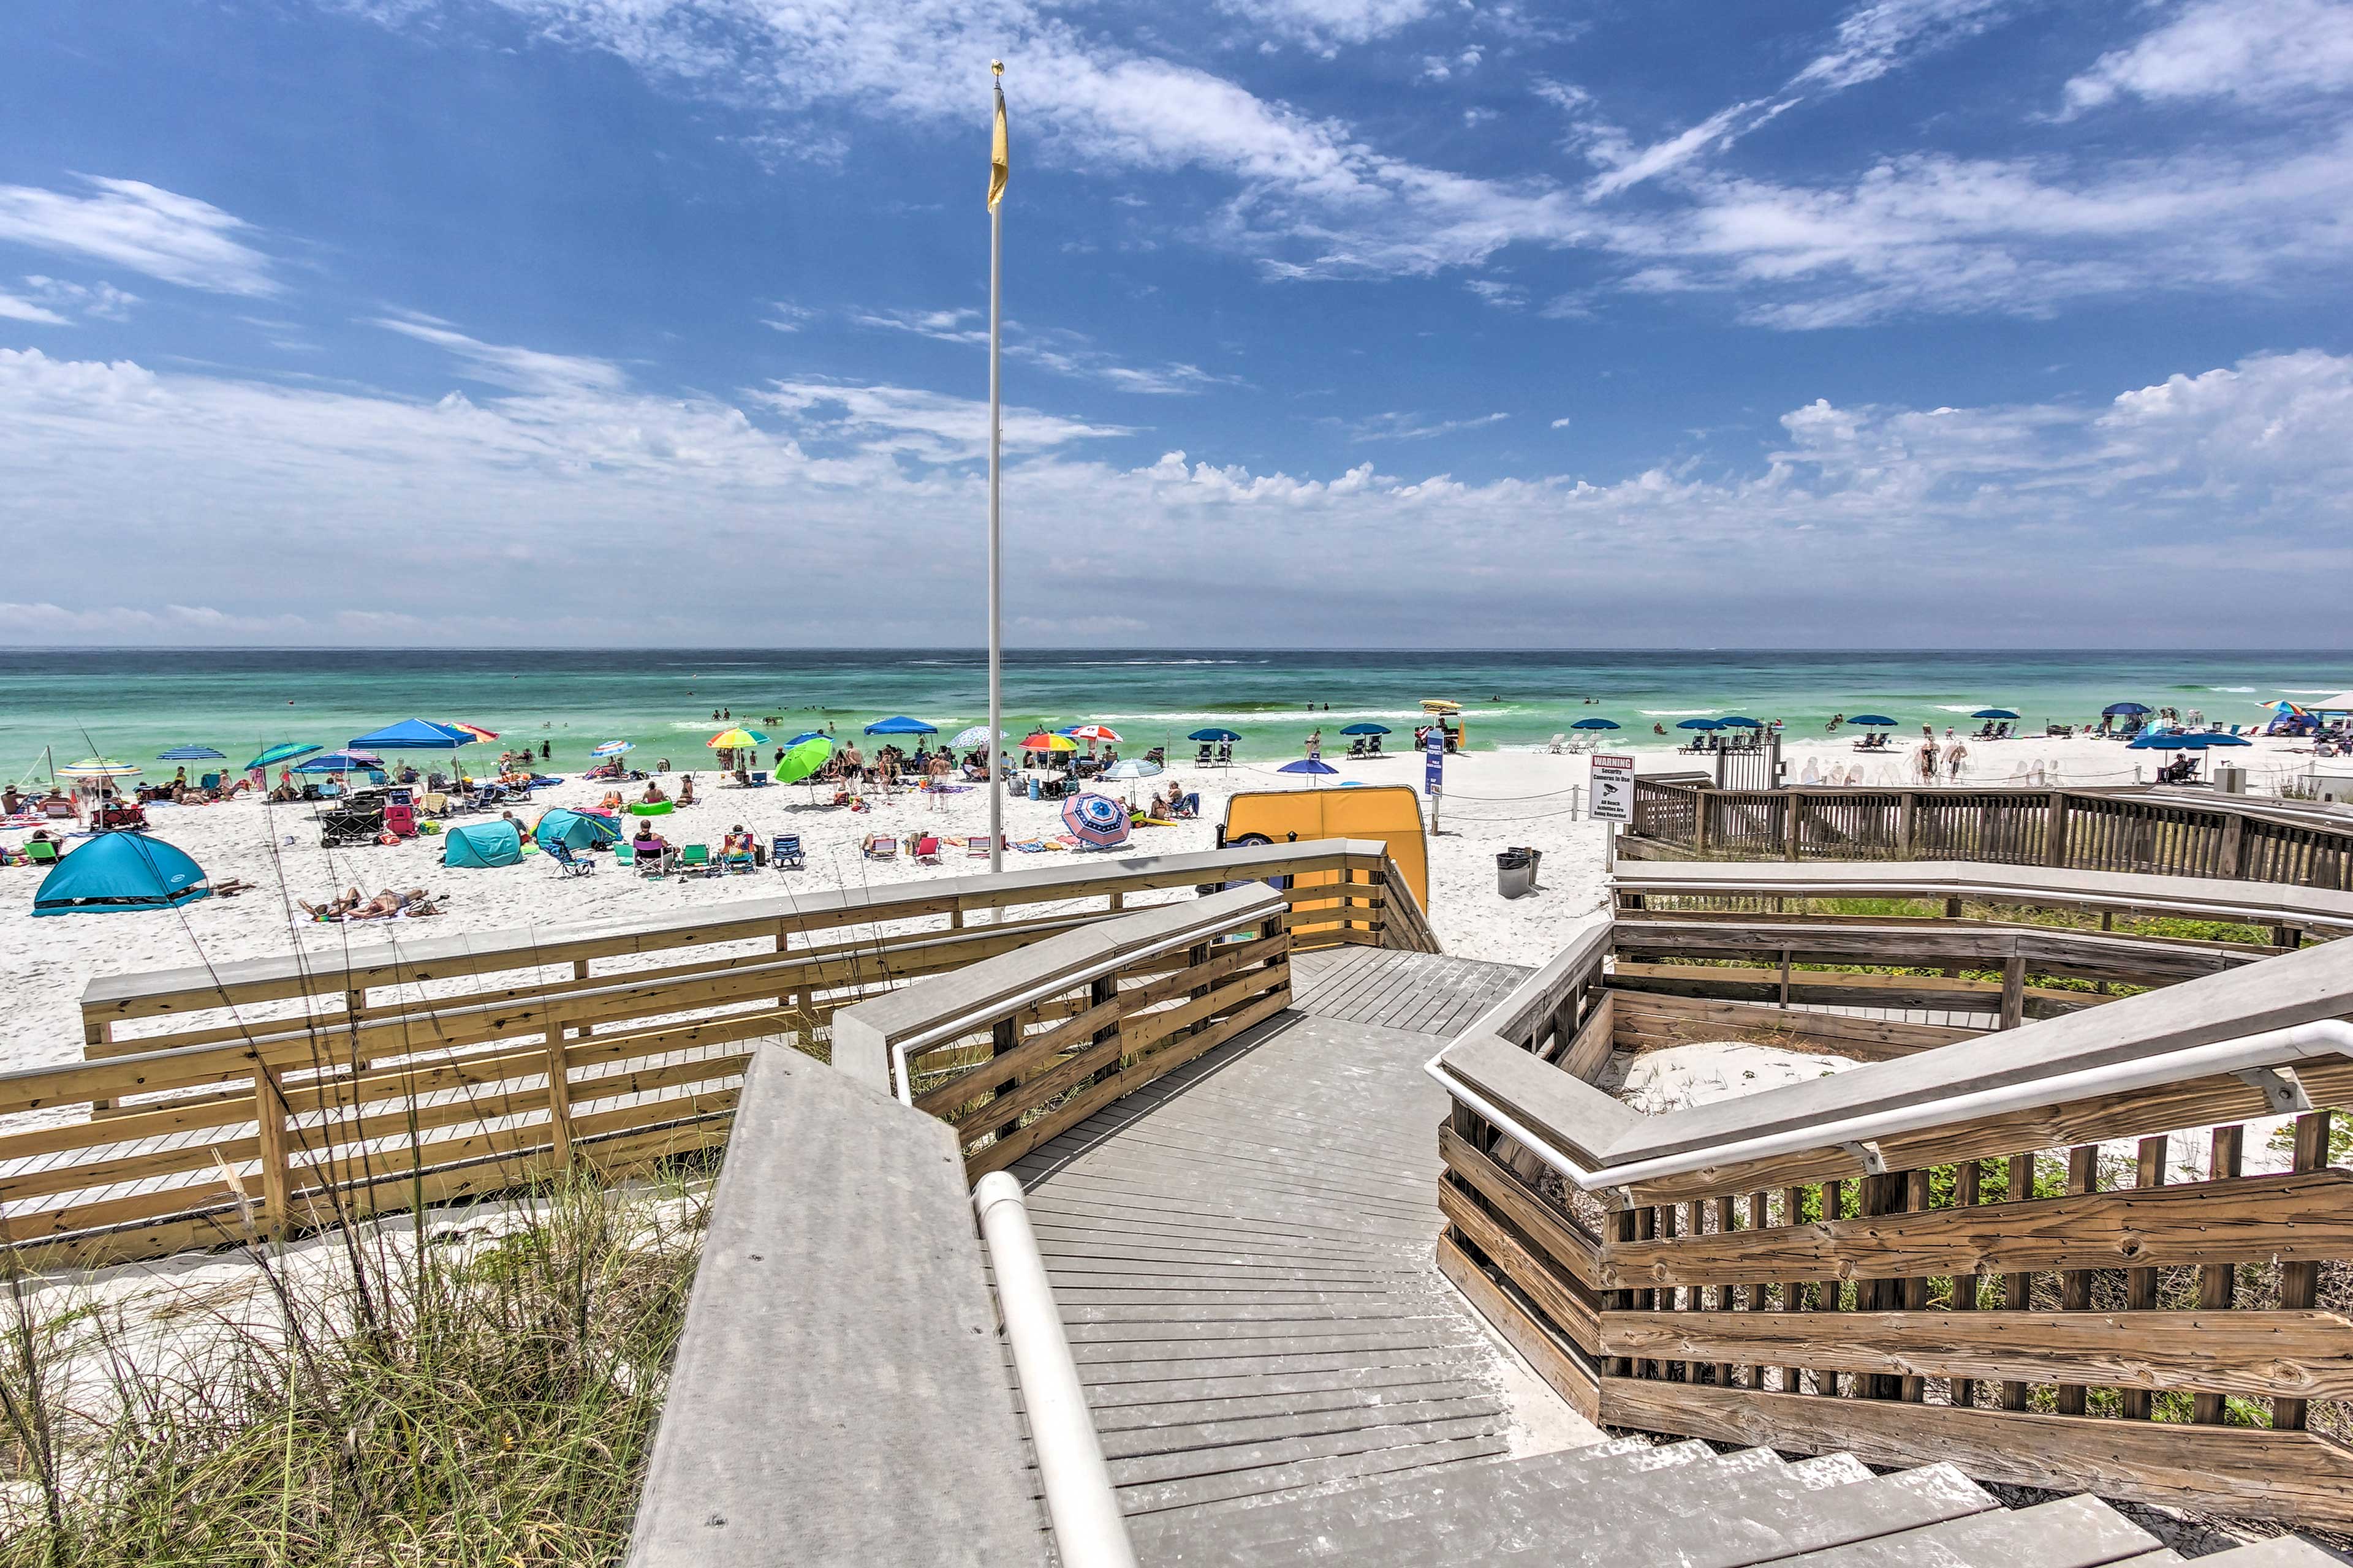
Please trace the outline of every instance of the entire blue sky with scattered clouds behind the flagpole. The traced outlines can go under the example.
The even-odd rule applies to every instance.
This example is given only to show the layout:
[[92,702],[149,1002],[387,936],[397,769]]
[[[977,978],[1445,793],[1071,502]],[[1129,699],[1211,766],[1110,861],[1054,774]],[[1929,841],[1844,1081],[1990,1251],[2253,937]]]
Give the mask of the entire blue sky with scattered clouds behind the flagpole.
[[0,16],[0,642],[2353,642],[2353,5]]

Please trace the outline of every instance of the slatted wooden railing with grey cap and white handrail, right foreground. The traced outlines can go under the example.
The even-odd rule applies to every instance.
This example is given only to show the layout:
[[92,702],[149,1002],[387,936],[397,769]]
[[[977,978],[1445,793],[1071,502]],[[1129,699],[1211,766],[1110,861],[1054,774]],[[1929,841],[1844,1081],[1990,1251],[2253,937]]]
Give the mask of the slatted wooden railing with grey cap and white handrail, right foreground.
[[1609,947],[1433,1065],[1440,1267],[1588,1418],[2353,1523],[2353,943],[1659,1117]]

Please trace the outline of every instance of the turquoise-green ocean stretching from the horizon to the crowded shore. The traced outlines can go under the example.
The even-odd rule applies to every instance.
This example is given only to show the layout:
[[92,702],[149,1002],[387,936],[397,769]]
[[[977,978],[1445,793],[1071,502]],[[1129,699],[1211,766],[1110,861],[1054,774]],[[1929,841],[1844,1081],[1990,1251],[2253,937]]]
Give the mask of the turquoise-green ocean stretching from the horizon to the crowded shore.
[[[1584,717],[1617,719],[1614,741],[1633,748],[1671,745],[1652,724],[1725,712],[1793,733],[1819,733],[1833,712],[1944,729],[1974,708],[2080,724],[2118,701],[2249,722],[2259,701],[2346,686],[2353,654],[2292,651],[1021,651],[1005,663],[1005,715],[1016,738],[1092,719],[1129,752],[1167,743],[1172,755],[1186,731],[1226,726],[1242,733],[1238,755],[1271,762],[1297,757],[1315,726],[1329,741],[1346,724],[1388,724],[1393,745],[1409,745],[1421,698],[1461,703],[1471,748],[1489,750],[1539,745]],[[99,752],[167,776],[155,755],[181,743],[240,764],[280,741],[334,748],[407,717],[466,719],[534,750],[546,741],[555,771],[584,766],[600,741],[687,769],[708,757],[713,710],[774,741],[887,715],[955,733],[986,719],[988,665],[960,649],[16,649],[0,651],[0,773]]]

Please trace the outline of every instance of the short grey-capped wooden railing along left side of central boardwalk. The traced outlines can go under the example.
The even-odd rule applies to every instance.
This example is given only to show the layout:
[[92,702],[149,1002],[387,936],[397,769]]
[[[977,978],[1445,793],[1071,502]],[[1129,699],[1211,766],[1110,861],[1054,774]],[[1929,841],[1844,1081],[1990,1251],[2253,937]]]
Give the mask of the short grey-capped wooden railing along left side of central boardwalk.
[[835,1063],[951,1124],[979,1180],[1289,1006],[1285,919],[1252,884],[1047,938],[845,1009]]

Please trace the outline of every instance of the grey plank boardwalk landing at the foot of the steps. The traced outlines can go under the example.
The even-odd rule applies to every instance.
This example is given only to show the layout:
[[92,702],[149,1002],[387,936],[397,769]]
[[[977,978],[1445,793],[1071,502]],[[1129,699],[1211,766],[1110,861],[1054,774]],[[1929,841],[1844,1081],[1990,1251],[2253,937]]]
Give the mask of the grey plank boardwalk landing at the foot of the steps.
[[[1299,964],[1299,1009],[1014,1166],[1129,1514],[1586,1432],[1433,1262],[1447,1105],[1421,1072],[1433,1037],[1315,1016],[1320,997],[1344,1011],[1386,997],[1435,1027],[1464,1006],[1454,976],[1485,994],[1518,971],[1334,957],[1348,961],[1313,980]],[[1414,994],[1393,994],[1391,966]]]

